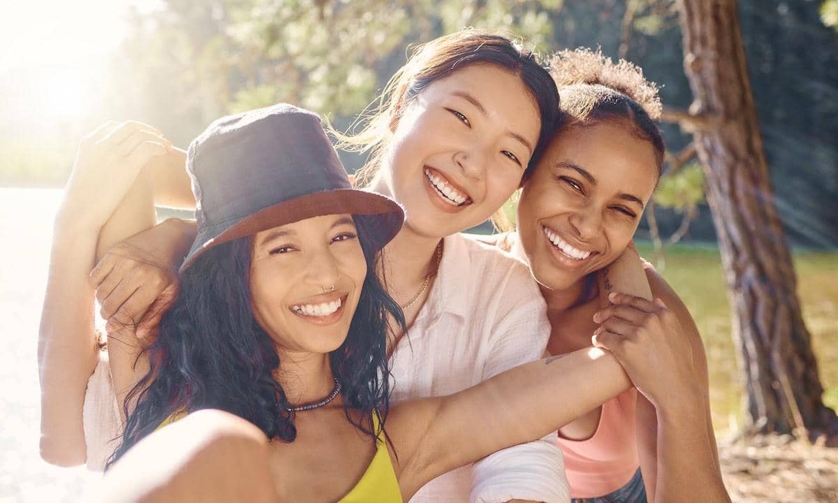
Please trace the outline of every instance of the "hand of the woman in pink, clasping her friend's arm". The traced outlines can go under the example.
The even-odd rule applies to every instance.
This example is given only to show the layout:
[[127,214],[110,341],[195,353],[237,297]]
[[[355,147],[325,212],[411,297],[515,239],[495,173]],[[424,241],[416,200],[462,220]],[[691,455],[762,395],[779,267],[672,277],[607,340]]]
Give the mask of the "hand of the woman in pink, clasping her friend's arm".
[[611,293],[608,299],[612,305],[593,316],[600,324],[593,345],[611,351],[655,407],[699,401],[691,342],[675,313],[660,298]]

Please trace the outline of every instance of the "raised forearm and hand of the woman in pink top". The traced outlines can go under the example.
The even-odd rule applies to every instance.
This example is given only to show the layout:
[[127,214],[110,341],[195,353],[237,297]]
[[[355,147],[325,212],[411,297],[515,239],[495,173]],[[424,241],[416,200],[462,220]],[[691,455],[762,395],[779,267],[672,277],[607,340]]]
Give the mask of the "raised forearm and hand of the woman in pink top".
[[[642,270],[635,254],[615,266]],[[634,265],[631,264],[634,262]],[[603,276],[608,281],[616,267]],[[618,295],[597,314],[614,351],[639,392],[636,411],[640,467],[649,501],[727,501],[709,420],[707,367],[701,336],[689,311],[665,281],[645,273],[654,297]],[[612,280],[613,290],[621,290]],[[613,331],[613,333],[608,333]]]

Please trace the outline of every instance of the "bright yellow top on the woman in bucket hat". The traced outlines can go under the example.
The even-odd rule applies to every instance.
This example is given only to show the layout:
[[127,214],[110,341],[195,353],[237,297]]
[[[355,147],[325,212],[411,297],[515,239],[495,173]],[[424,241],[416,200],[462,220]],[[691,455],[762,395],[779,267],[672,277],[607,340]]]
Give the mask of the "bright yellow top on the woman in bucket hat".
[[[174,412],[163,423],[160,423],[157,429],[184,417],[186,417],[184,411]],[[373,413],[372,421],[373,429],[378,429],[380,419],[377,411]],[[375,501],[375,503],[402,503],[403,501],[399,481],[396,479],[396,470],[393,469],[393,460],[390,459],[383,432],[375,439],[375,456],[361,475],[361,480],[355,484],[349,494],[339,500],[339,503],[366,503],[367,501]]]

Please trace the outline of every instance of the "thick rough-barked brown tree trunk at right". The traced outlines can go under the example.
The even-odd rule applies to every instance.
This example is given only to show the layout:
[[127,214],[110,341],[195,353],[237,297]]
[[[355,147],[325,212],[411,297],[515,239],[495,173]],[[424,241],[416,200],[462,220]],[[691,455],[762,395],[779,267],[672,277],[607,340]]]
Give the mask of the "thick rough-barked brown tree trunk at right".
[[694,135],[722,252],[745,386],[745,433],[815,437],[838,431],[821,402],[810,334],[800,312],[735,0],[678,0],[693,101],[677,120]]

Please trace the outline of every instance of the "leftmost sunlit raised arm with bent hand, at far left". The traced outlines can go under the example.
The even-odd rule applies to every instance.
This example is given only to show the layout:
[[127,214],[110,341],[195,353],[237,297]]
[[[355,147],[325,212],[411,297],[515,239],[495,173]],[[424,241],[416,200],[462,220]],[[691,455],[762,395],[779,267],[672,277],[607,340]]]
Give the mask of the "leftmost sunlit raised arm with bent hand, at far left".
[[39,329],[40,451],[49,463],[80,464],[86,457],[82,406],[98,357],[88,274],[99,232],[142,166],[167,148],[159,132],[139,122],[108,122],[79,148],[55,217]]

